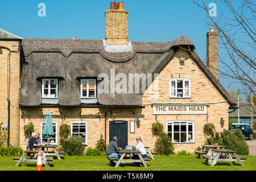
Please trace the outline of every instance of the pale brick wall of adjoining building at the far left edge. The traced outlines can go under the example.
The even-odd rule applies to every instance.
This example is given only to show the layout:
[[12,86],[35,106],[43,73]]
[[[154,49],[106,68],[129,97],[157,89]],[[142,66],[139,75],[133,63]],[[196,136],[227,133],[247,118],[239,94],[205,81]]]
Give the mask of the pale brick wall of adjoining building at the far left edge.
[[[9,67],[10,51],[18,51],[18,41],[0,40],[2,54],[0,54],[0,123],[8,125],[8,102],[7,102],[7,67]],[[10,53],[10,144],[19,145],[19,73],[20,53]],[[2,129],[1,129],[2,130]]]

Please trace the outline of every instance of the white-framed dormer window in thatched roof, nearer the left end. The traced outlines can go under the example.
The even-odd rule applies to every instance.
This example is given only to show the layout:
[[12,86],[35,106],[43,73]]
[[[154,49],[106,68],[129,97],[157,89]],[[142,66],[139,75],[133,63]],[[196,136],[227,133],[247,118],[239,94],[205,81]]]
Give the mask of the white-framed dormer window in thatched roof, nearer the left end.
[[42,98],[57,98],[58,79],[42,79]]

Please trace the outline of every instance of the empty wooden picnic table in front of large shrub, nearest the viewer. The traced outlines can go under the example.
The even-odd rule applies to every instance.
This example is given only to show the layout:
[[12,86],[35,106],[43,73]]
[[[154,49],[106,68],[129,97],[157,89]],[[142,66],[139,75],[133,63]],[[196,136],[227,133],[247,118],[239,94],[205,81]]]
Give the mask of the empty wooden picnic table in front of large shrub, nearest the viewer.
[[[205,164],[208,162],[208,160],[212,160],[212,167],[217,163],[217,162],[239,162],[241,166],[245,166],[242,161],[245,161],[245,158],[240,158],[236,151],[234,150],[229,150],[229,149],[212,149],[212,151],[216,152],[216,156],[210,156],[210,155],[202,155],[203,158],[205,158]],[[222,154],[225,154],[225,157],[220,158]],[[234,157],[232,157],[232,154]]]

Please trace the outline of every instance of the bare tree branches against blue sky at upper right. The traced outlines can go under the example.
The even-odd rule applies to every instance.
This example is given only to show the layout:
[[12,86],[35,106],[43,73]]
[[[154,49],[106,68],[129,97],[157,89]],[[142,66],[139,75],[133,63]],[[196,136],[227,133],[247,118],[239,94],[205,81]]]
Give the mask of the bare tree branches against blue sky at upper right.
[[[207,5],[204,0],[191,1],[205,11],[206,23],[218,31],[219,48],[224,51],[218,57],[225,67],[218,69],[220,76],[240,83],[246,98],[255,94],[255,3],[250,0],[219,0]],[[222,13],[214,16],[212,5],[221,7]]]

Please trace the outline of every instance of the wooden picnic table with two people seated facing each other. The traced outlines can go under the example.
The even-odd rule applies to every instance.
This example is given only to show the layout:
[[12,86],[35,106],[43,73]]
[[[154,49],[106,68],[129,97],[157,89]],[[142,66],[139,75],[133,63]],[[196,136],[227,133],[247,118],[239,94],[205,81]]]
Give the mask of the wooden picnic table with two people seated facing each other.
[[[136,150],[136,151],[126,151],[126,150],[119,150],[118,151],[120,154],[122,154],[121,158],[118,160],[117,158],[108,158],[109,160],[113,160],[113,162],[117,162],[115,167],[118,167],[120,163],[142,163],[144,167],[147,167],[146,162],[150,162],[151,159],[149,158],[142,158],[141,152]],[[125,158],[126,155],[129,154],[130,158]],[[131,155],[138,154],[139,159],[132,159]]]

